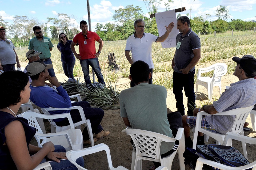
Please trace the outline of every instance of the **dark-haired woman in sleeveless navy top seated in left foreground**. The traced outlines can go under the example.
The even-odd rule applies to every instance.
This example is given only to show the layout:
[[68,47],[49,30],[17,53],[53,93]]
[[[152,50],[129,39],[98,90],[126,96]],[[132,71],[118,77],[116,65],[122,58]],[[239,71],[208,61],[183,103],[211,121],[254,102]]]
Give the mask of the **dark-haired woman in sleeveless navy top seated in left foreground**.
[[[52,169],[77,169],[67,159],[65,148],[47,142],[42,148],[30,145],[36,130],[29,126],[27,119],[17,117],[19,107],[27,103],[30,97],[28,76],[22,71],[6,71],[0,75],[0,167],[1,169],[34,169],[46,162],[45,157],[54,160],[49,162]],[[58,152],[54,152],[58,151]],[[79,163],[78,163],[79,162]],[[77,163],[84,166],[83,158]]]

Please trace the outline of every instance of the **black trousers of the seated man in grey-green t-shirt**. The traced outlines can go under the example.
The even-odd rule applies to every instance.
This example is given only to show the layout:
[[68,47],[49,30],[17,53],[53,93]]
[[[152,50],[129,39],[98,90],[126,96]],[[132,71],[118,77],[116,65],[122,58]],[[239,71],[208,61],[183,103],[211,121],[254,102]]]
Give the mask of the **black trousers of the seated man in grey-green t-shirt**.
[[[176,134],[178,132],[178,129],[179,128],[182,128],[182,117],[181,117],[181,114],[179,112],[171,112],[169,114],[167,114],[167,119],[168,119],[168,122],[170,124],[170,129],[172,131],[172,134],[173,134],[173,137],[175,138],[176,137]],[[178,141],[175,142],[175,144],[177,143]],[[172,149],[164,154],[161,154],[161,158],[164,158],[168,155],[171,155],[175,150]],[[161,165],[160,162],[153,162],[154,165],[155,165],[155,168],[159,167]]]

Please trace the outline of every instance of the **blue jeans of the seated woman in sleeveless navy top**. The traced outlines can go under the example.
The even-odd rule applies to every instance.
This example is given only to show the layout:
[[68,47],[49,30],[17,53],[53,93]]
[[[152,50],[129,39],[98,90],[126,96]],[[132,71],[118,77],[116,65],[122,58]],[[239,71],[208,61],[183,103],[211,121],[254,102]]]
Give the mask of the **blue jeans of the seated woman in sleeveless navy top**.
[[[65,148],[61,145],[54,145],[54,147],[54,152],[66,152]],[[41,161],[41,163],[44,162],[46,162],[45,158]],[[85,162],[83,160],[83,157],[78,158],[75,162],[81,167],[84,167]],[[72,164],[69,160],[61,160],[60,163],[55,161],[49,163],[51,164],[51,168],[53,170],[77,170],[77,167],[74,164]]]

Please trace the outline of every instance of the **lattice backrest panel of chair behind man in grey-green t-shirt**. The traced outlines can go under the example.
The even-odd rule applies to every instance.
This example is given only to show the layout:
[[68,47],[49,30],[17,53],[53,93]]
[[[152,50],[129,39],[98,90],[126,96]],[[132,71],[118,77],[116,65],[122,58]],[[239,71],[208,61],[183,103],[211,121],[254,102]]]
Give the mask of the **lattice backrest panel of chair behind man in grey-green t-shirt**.
[[[140,156],[147,156],[157,159],[158,138],[142,134],[132,134],[139,148]],[[160,145],[160,143],[159,143]]]

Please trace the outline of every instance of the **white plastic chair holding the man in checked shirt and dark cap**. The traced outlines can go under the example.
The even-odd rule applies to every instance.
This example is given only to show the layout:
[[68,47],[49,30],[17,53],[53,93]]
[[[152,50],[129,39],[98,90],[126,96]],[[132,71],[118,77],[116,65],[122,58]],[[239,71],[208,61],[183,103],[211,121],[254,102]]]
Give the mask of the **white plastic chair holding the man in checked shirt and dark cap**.
[[[233,109],[233,110],[226,111],[226,112],[216,113],[214,115],[235,115],[235,121],[234,121],[233,128],[232,128],[231,132],[235,133],[235,134],[239,133],[241,135],[244,135],[243,125],[245,124],[245,120],[246,120],[247,116],[249,115],[252,108],[253,108],[253,106],[245,107],[245,108],[237,108],[237,109]],[[216,144],[223,145],[223,140],[224,140],[225,134],[214,133],[210,130],[201,128],[203,115],[210,115],[210,114],[208,114],[206,112],[198,112],[197,113],[197,121],[196,121],[195,128],[194,128],[193,149],[195,149],[196,145],[197,145],[198,132],[202,132],[206,135],[209,135],[210,137],[216,139]],[[231,139],[227,141],[226,145],[232,146]],[[243,147],[243,151],[246,153],[246,146],[245,146],[244,142],[242,142],[242,147]]]

